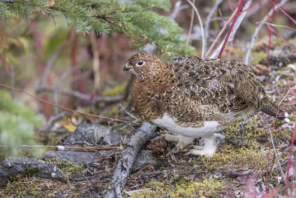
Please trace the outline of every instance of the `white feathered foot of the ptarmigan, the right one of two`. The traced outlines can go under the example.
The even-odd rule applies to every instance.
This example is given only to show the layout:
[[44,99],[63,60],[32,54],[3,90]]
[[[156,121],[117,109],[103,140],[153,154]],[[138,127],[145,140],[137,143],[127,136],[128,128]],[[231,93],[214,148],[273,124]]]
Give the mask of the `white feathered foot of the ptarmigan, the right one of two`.
[[220,133],[214,133],[212,136],[203,137],[200,139],[200,143],[204,143],[203,146],[192,145],[193,149],[189,150],[188,154],[205,156],[206,158],[212,158],[215,154],[218,145],[223,141],[224,135]]

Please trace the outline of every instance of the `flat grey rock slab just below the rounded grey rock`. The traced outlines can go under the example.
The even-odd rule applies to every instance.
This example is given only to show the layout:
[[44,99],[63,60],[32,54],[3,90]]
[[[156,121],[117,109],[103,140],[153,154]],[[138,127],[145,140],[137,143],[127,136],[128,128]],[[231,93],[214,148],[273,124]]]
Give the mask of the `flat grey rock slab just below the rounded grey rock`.
[[100,153],[86,151],[47,151],[43,159],[56,158],[58,161],[69,160],[74,165],[82,165],[83,163],[98,163]]

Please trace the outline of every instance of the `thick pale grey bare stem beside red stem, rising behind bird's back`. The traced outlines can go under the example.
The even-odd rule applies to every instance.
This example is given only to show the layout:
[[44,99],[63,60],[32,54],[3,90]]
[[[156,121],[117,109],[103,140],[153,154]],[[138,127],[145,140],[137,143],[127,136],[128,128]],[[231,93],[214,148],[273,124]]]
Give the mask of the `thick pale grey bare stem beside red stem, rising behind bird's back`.
[[[252,3],[252,0],[247,0],[242,8],[242,10],[245,10],[247,9],[248,7],[250,7]],[[240,10],[237,10],[237,12],[240,12]],[[226,46],[227,43],[229,42],[232,42],[233,41],[233,38],[234,38],[234,35],[236,33],[236,31],[238,30],[238,28],[240,27],[243,19],[245,18],[246,16],[246,13],[247,12],[243,12],[242,14],[240,14],[238,17],[237,17],[237,20],[235,21],[233,25],[233,29],[231,31],[231,33],[229,34],[229,38],[228,40],[226,41],[227,39],[227,35],[225,36],[225,38],[223,39],[223,41],[220,43],[219,47],[216,48],[216,50],[213,52],[213,54],[210,56],[211,59],[213,59],[214,57],[217,57],[218,55],[221,54],[221,50],[223,49],[224,46]],[[226,41],[226,42],[225,42]]]

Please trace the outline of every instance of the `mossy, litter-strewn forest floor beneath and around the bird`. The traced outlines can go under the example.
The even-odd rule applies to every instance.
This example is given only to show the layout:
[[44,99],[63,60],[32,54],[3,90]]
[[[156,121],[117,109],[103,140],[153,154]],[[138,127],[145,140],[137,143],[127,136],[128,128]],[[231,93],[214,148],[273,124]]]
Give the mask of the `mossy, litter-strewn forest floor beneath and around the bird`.
[[[296,38],[290,40],[296,45]],[[261,45],[264,45],[262,42]],[[266,45],[266,43],[265,43]],[[231,59],[242,60],[240,48],[228,48],[226,53]],[[296,82],[293,72],[296,69],[296,54],[289,51],[285,44],[275,44],[271,53],[270,67],[266,67],[266,46],[252,53],[250,66],[259,74],[259,79],[266,86],[266,93],[273,101],[279,101],[288,91],[287,82]],[[293,58],[294,57],[294,60]],[[294,62],[293,62],[294,61]],[[260,64],[259,64],[260,63]],[[295,84],[291,84],[291,87]],[[279,96],[277,93],[281,93]],[[120,109],[118,105],[110,111]],[[131,112],[133,115],[134,112]],[[295,112],[294,112],[295,113]],[[112,114],[112,113],[111,113]],[[247,198],[263,196],[264,192],[282,197],[286,194],[286,186],[280,172],[287,172],[291,137],[295,114],[291,113],[291,123],[276,120],[262,113],[235,122],[222,132],[224,140],[217,153],[210,159],[175,153],[166,156],[174,147],[169,144],[165,154],[154,156],[155,163],[145,165],[131,172],[127,179],[123,196],[132,198],[197,198],[197,197],[235,197]],[[117,131],[120,126],[113,126]],[[129,126],[121,130],[128,142],[133,131]],[[270,141],[270,132],[276,153]],[[157,129],[155,136],[164,131]],[[147,148],[143,148],[147,150]],[[91,151],[89,151],[91,152]],[[92,151],[93,152],[93,151]],[[295,154],[295,150],[294,150]],[[58,162],[56,159],[46,160],[55,164],[67,178],[64,181],[44,179],[30,173],[16,175],[0,189],[0,197],[103,197],[110,189],[111,177],[120,158],[120,149],[99,153],[99,163],[92,165],[73,165]],[[295,155],[292,156],[295,160]],[[101,175],[91,178],[92,174]],[[289,185],[295,186],[295,169],[290,169]],[[85,178],[75,181],[73,178]],[[78,180],[78,179],[76,179]],[[82,180],[82,179],[81,179]],[[291,188],[292,189],[292,188]]]

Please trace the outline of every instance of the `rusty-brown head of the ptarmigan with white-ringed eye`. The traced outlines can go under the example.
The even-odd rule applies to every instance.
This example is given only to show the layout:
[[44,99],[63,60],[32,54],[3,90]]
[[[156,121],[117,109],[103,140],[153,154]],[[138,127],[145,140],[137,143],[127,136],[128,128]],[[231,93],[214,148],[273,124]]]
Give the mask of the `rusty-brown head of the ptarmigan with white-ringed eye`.
[[148,53],[137,53],[129,58],[123,67],[123,71],[130,71],[137,78],[145,80],[148,76],[152,77],[161,72],[164,65],[164,62],[157,56]]

